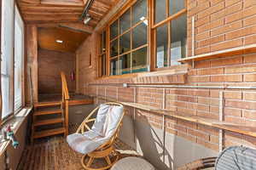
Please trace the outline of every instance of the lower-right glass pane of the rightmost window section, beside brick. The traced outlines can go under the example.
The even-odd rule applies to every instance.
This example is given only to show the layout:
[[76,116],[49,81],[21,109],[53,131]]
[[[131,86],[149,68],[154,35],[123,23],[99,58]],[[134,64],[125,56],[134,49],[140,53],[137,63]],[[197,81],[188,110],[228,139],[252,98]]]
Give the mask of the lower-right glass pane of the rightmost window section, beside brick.
[[171,22],[171,65],[178,65],[178,59],[186,57],[187,16],[183,14]]

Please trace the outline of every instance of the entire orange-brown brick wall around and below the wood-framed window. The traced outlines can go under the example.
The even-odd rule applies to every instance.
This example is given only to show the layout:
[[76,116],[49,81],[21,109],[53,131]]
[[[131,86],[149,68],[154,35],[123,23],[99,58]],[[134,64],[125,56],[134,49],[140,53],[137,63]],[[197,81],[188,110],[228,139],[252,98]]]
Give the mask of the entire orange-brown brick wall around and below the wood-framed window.
[[[224,48],[241,47],[255,41],[256,2],[253,0],[189,0],[189,51],[191,55],[191,17],[195,16],[195,54],[206,54]],[[79,53],[87,56],[91,50],[89,42],[84,42]],[[96,36],[95,36],[96,37]],[[93,54],[97,63],[96,51]],[[80,65],[85,65],[79,60]],[[82,64],[84,62],[84,64]],[[206,116],[218,120],[219,92],[213,88],[123,88],[122,83],[174,84],[191,86],[255,86],[256,54],[241,54],[224,58],[195,62],[195,67],[187,67],[184,73],[161,76],[119,77],[96,79],[94,68],[79,67],[79,77],[83,86],[79,92],[98,95],[106,99],[136,102],[159,109],[178,111],[187,115]],[[87,83],[98,83],[101,86]],[[119,86],[109,86],[117,83]],[[87,85],[86,85],[87,84]],[[104,85],[105,84],[105,85]],[[102,100],[101,100],[102,102]],[[130,115],[133,115],[133,110]],[[131,113],[132,112],[132,113]],[[162,127],[162,116],[153,112],[136,110],[136,119],[147,119],[154,126]],[[224,89],[224,121],[240,126],[256,125],[256,92],[248,89]],[[166,132],[189,139],[212,150],[218,150],[218,129],[197,123],[182,121],[171,116],[166,118]],[[233,144],[249,145],[256,148],[256,139],[238,133],[224,132],[224,147]]]

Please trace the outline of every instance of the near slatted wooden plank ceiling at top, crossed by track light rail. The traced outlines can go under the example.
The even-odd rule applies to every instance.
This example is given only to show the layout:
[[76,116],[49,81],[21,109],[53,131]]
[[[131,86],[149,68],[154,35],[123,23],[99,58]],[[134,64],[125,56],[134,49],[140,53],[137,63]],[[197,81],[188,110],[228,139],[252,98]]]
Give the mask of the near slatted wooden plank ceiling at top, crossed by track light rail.
[[[26,24],[81,23],[79,20],[88,0],[17,0]],[[95,0],[90,7],[92,20],[88,26],[95,27],[119,0]]]

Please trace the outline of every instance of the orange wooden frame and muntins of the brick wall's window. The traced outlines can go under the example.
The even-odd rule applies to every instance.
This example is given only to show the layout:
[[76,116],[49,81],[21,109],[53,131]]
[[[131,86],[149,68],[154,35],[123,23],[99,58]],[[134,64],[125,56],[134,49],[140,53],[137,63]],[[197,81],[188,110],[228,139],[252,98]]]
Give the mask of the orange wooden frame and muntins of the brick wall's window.
[[[131,0],[131,1],[128,1],[127,3],[125,3],[124,7],[120,9],[120,12],[118,14],[115,14],[111,20],[108,21],[108,24],[103,27],[102,31],[107,31],[107,42],[106,42],[106,76],[104,77],[122,77],[124,75],[127,75],[127,74],[118,74],[118,75],[110,75],[110,61],[111,59],[119,59],[121,56],[125,55],[125,54],[131,54],[133,51],[136,51],[138,49],[141,49],[141,48],[145,48],[145,47],[148,47],[148,56],[147,56],[147,66],[149,67],[148,68],[148,71],[142,71],[142,72],[150,72],[150,71],[162,71],[162,70],[168,70],[168,69],[172,69],[172,68],[176,68],[177,65],[170,65],[171,63],[171,58],[170,58],[170,55],[171,53],[169,52],[170,50],[170,47],[171,47],[171,22],[172,20],[176,20],[178,17],[182,16],[183,14],[187,14],[188,12],[188,0],[183,0],[184,1],[184,8],[179,10],[176,14],[172,14],[172,15],[169,15],[169,0],[166,0],[166,19],[165,20],[161,20],[160,22],[158,23],[154,23],[154,20],[155,20],[155,3],[154,3],[154,0],[146,0],[147,1],[147,18],[145,20],[148,20],[148,35],[147,35],[147,38],[148,38],[148,42],[139,47],[139,48],[135,48],[135,49],[132,49],[132,45],[131,45],[131,49],[123,54],[118,54],[114,57],[111,57],[111,52],[110,52],[110,48],[111,48],[111,42],[115,41],[115,40],[118,40],[118,53],[119,53],[119,38],[122,37],[123,35],[125,35],[125,33],[127,32],[130,32],[131,34],[131,43],[132,43],[132,30],[139,26],[140,24],[143,23],[144,20],[141,20],[139,22],[137,22],[137,24],[135,24],[134,26],[132,26],[132,14],[133,14],[133,10],[132,10],[132,6],[134,4],[137,3],[137,0]],[[177,0],[179,1],[179,0]],[[123,31],[121,34],[119,33],[117,37],[114,37],[113,39],[110,39],[110,26],[116,21],[118,20],[118,23],[119,23],[119,19],[120,17],[125,14],[127,12],[127,10],[131,10],[131,27],[125,31]],[[187,16],[187,15],[186,15]],[[168,66],[166,67],[161,67],[161,68],[157,68],[156,66],[156,30],[158,27],[160,26],[164,26],[164,25],[167,25],[168,27],[168,53],[167,53],[167,59],[168,59]],[[119,24],[118,24],[118,31],[119,31]],[[100,31],[101,32],[101,31]],[[188,37],[188,35],[187,35]],[[100,59],[98,57],[98,59]],[[132,60],[132,57],[131,57],[131,60]],[[100,71],[100,69],[102,69],[100,67],[101,65],[99,65],[98,67],[98,70]],[[118,69],[119,70],[119,69]],[[132,65],[131,65],[131,70],[132,70]],[[133,74],[137,74],[137,73],[128,73],[128,75],[133,75]],[[99,75],[99,77],[101,77]]]

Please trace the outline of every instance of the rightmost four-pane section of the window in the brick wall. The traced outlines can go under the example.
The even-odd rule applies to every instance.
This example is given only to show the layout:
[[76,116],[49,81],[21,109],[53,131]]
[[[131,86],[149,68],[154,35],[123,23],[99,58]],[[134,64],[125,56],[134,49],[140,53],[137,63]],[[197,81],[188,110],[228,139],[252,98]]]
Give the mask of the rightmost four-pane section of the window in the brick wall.
[[185,1],[154,0],[154,10],[155,67],[179,65],[177,60],[187,54]]

